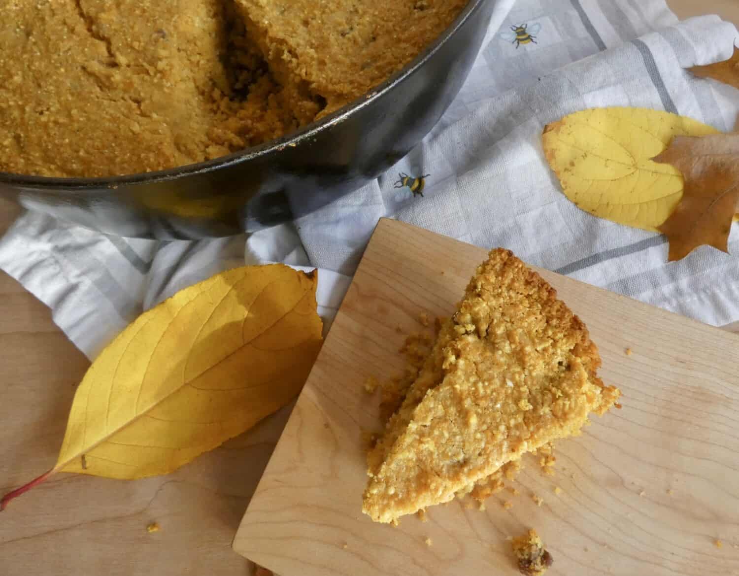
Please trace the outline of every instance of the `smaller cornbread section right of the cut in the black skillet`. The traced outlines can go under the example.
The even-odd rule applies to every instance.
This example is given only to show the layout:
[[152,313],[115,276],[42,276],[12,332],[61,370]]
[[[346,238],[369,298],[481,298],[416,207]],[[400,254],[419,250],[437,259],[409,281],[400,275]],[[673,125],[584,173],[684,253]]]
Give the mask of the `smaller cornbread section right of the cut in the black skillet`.
[[236,0],[280,84],[325,101],[321,115],[401,70],[467,2]]

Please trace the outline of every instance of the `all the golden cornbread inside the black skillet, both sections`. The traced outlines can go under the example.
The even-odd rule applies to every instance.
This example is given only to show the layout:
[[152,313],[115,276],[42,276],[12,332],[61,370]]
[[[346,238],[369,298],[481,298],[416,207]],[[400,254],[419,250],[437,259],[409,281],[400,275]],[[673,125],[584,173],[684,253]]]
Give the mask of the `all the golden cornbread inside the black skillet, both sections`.
[[403,67],[463,4],[6,1],[0,172],[134,174],[278,138]]

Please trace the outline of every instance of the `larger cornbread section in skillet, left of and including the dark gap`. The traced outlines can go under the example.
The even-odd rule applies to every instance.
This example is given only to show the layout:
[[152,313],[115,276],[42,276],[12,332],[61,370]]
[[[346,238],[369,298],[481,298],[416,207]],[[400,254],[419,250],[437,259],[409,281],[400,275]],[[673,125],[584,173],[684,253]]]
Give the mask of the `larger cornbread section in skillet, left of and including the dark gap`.
[[234,15],[222,0],[7,2],[0,170],[147,172],[295,129]]

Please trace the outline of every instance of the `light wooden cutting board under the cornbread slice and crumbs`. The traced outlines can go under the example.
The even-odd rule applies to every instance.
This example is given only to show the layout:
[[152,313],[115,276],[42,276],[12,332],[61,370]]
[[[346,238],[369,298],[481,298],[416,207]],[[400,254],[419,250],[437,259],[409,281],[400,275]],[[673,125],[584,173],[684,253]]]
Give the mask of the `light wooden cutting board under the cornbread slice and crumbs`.
[[739,338],[547,271],[623,408],[559,441],[554,476],[528,458],[520,494],[494,495],[484,511],[454,501],[397,528],[361,513],[361,431],[378,429],[378,397],[363,384],[403,369],[403,333],[423,329],[420,313],[449,314],[485,257],[381,220],[234,549],[283,576],[515,575],[508,538],[533,526],[551,576],[739,575]]

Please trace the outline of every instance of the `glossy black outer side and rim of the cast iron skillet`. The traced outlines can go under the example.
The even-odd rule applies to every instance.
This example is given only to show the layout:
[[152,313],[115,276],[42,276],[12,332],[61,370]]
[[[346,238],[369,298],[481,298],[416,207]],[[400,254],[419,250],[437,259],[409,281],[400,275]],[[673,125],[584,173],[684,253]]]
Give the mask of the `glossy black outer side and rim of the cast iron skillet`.
[[299,132],[177,169],[106,178],[0,172],[0,195],[128,237],[253,232],[309,213],[405,156],[459,92],[496,0],[470,0],[451,27],[384,84]]

